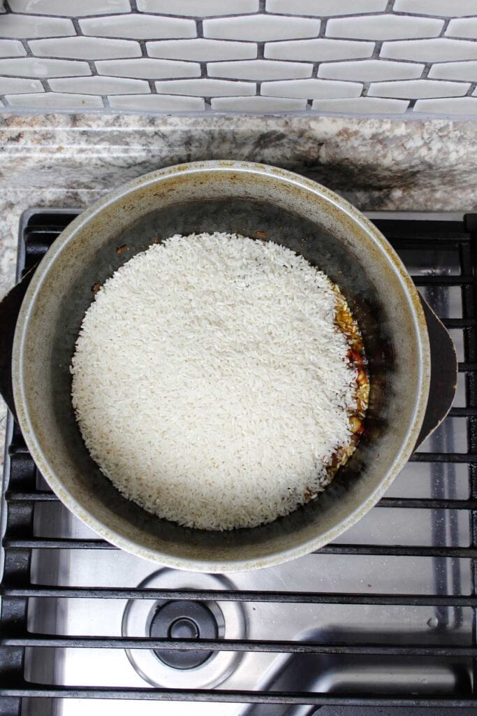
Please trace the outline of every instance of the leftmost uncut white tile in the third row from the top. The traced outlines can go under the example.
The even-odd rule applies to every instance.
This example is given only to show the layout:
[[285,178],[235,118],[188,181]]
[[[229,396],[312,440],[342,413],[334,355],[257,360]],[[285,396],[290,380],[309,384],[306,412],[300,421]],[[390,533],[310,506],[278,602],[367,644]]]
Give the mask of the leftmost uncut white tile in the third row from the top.
[[30,40],[29,48],[36,57],[65,59],[119,59],[141,57],[136,40],[112,40],[105,37],[55,37]]

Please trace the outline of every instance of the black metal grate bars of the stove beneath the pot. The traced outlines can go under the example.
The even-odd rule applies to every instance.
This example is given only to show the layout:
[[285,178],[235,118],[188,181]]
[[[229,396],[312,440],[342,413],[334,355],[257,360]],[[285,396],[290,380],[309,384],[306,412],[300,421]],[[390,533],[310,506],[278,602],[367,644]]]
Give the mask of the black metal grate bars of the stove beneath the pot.
[[[19,241],[19,259],[17,277],[34,266],[46,253],[56,236],[77,216],[77,211],[42,211],[26,213],[22,220]],[[470,594],[449,593],[444,582],[438,581],[433,594],[400,594],[399,585],[405,581],[405,574],[396,574],[396,589],[387,594],[368,594],[365,589],[359,592],[345,591],[237,591],[215,590],[177,590],[142,589],[136,587],[87,587],[55,586],[33,584],[31,581],[32,556],[36,550],[114,550],[114,546],[99,538],[74,539],[50,536],[35,536],[34,511],[39,503],[55,502],[56,495],[44,488],[31,456],[26,448],[21,432],[13,420],[9,419],[6,450],[6,470],[4,474],[4,501],[1,520],[3,540],[4,569],[1,582],[1,619],[0,619],[0,713],[6,716],[19,716],[22,701],[25,698],[49,700],[59,699],[134,699],[134,700],[186,700],[205,702],[263,703],[268,705],[317,705],[324,707],[329,714],[351,713],[390,713],[393,707],[400,707],[400,713],[417,714],[421,709],[432,707],[437,714],[440,707],[451,710],[459,708],[459,713],[471,713],[477,710],[476,686],[476,607],[477,607],[477,215],[468,215],[462,221],[415,221],[403,218],[376,219],[378,228],[387,236],[405,261],[415,284],[420,287],[441,315],[444,324],[452,329],[458,345],[459,374],[465,382],[463,405],[453,407],[436,437],[422,450],[413,455],[413,463],[433,463],[433,492],[431,497],[386,497],[379,508],[403,508],[407,510],[429,511],[465,511],[470,522],[469,544],[460,545],[452,534],[441,534],[431,545],[388,545],[386,543],[333,543],[320,550],[321,555],[356,555],[389,557],[399,556],[409,561],[415,557],[433,558],[439,569],[456,569],[461,560],[470,564]],[[429,269],[431,266],[431,269]],[[448,291],[458,292],[461,315],[448,315]],[[457,294],[454,294],[457,295]],[[446,432],[446,425],[454,419],[466,422],[467,450],[456,449],[453,440]],[[444,490],[446,480],[453,480],[454,466],[463,464],[468,473],[468,498],[452,496],[452,490]],[[416,480],[418,477],[416,476]],[[451,495],[451,496],[449,496]],[[433,522],[433,531],[452,527]],[[448,583],[447,583],[448,584]],[[370,586],[370,585],[368,585]],[[319,605],[380,605],[380,606],[433,606],[434,609],[470,608],[473,614],[471,638],[468,644],[450,643],[446,630],[433,640],[433,643],[406,644],[392,637],[379,639],[376,643],[346,642],[336,639],[326,642],[265,641],[251,639],[220,640],[212,639],[187,644],[187,640],[147,639],[123,637],[92,637],[39,634],[27,627],[29,599],[41,597],[47,599],[187,599],[240,601],[247,603],[287,603]],[[301,691],[265,691],[265,690],[212,690],[200,689],[162,689],[133,687],[69,687],[64,685],[44,685],[26,680],[26,649],[60,648],[102,648],[102,649],[203,649],[206,651],[240,652],[279,652],[282,654],[350,654],[350,655],[393,655],[403,659],[416,657],[437,657],[439,659],[464,659],[469,666],[471,677],[463,679],[461,690],[448,696],[393,695],[393,683],[383,690],[368,694],[353,694],[340,689],[332,692]],[[332,710],[327,710],[327,707]],[[340,710],[343,707],[343,711]],[[348,707],[348,710],[347,710]],[[359,707],[365,709],[359,711]],[[383,711],[383,707],[386,708]],[[403,708],[405,707],[405,708]],[[353,711],[349,709],[353,708]],[[356,710],[354,710],[356,709]],[[374,711],[376,709],[376,711]],[[443,711],[444,713],[444,711]]]

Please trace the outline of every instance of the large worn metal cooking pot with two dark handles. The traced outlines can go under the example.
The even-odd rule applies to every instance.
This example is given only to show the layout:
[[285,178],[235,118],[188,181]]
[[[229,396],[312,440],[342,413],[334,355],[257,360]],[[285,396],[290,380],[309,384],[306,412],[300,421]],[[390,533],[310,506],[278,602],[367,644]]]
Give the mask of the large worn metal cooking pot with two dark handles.
[[[225,532],[181,527],[122,497],[90,458],[70,397],[92,286],[158,236],[202,231],[266,238],[323,269],[358,320],[370,373],[362,440],[325,492],[270,524]],[[334,540],[378,502],[446,415],[456,387],[446,329],[373,223],[327,188],[255,163],[178,165],[115,190],[62,232],[0,313],[1,391],[41,474],[104,539],[178,569],[256,569]]]

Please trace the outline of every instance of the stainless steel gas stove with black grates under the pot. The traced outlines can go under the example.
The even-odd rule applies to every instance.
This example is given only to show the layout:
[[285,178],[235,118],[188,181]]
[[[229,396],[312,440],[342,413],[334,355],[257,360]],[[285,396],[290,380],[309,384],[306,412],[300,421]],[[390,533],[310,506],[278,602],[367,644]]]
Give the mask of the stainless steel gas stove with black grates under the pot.
[[[18,279],[77,213],[24,214]],[[338,543],[225,576],[99,539],[51,493],[9,416],[0,714],[477,713],[477,215],[368,216],[455,342],[446,420]]]

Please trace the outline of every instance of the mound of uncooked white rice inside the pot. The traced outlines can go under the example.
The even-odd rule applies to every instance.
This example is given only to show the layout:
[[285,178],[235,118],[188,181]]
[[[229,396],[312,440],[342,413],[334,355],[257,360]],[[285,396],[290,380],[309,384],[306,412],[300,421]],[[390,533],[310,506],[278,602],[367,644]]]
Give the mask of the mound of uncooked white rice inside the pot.
[[172,236],[87,310],[72,399],[89,453],[129,500],[209,530],[305,503],[349,446],[355,369],[325,274],[283,246]]

